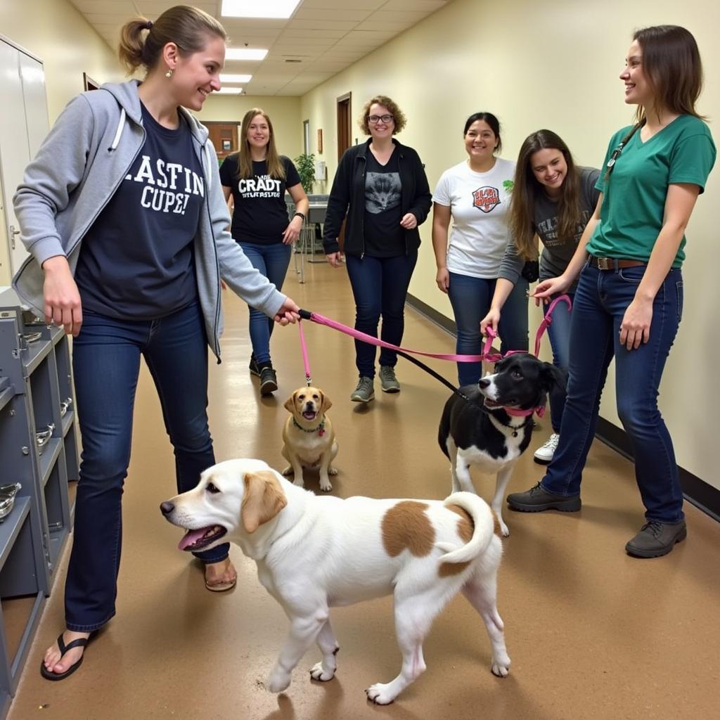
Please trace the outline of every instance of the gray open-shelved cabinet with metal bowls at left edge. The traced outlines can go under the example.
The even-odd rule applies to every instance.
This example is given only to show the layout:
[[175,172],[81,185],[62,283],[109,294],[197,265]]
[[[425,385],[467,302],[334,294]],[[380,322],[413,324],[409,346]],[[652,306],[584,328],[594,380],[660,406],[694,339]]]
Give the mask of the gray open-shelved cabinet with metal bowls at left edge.
[[0,523],[0,718],[71,528],[79,444],[70,352],[62,328],[0,292],[0,485],[22,485]]

